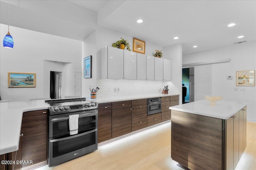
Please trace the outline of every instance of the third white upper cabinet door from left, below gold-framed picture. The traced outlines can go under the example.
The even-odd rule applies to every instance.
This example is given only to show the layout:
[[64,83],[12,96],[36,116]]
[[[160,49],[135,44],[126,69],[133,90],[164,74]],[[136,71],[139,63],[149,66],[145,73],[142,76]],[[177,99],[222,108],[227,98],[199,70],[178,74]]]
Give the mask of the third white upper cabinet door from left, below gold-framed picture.
[[146,80],[146,55],[137,53],[137,79]]

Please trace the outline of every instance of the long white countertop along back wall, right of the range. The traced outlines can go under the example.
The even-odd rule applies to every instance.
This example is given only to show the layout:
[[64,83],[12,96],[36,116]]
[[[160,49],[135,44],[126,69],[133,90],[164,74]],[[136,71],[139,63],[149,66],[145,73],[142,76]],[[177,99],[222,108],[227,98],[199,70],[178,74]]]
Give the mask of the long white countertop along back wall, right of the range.
[[108,102],[120,102],[125,100],[139,100],[139,99],[146,99],[146,98],[158,98],[158,97],[165,97],[165,96],[176,96],[180,95],[177,93],[169,93],[169,94],[162,94],[162,93],[152,93],[152,94],[137,94],[137,95],[130,95],[130,96],[111,96],[111,97],[100,97],[95,99],[90,99],[90,97],[86,97],[86,99],[100,103],[108,103]]

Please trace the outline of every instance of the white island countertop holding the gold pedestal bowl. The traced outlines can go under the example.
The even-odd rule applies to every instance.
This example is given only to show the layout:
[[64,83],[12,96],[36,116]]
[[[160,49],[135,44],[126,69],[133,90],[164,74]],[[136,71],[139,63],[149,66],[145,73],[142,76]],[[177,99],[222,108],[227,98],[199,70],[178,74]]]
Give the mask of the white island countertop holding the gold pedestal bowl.
[[172,106],[169,108],[172,110],[183,111],[197,115],[204,115],[219,119],[228,119],[246,106],[246,103],[222,100],[216,102],[216,104],[217,106],[210,106],[210,101],[205,99],[178,106]]

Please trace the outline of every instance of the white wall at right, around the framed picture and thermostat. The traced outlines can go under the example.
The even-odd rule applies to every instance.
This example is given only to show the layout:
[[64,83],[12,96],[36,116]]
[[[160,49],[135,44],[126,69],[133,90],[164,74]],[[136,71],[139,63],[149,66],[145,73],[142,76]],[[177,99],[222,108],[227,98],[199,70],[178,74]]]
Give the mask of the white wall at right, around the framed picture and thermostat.
[[[182,64],[230,58],[228,63],[209,64],[202,70],[209,72],[212,66],[211,95],[223,96],[222,100],[247,103],[247,121],[256,122],[256,87],[236,86],[236,71],[256,70],[255,56],[256,41],[253,41],[184,55]],[[233,79],[227,80],[227,76],[233,76]],[[234,91],[234,88],[239,91]],[[245,91],[241,91],[241,88],[245,88]]]

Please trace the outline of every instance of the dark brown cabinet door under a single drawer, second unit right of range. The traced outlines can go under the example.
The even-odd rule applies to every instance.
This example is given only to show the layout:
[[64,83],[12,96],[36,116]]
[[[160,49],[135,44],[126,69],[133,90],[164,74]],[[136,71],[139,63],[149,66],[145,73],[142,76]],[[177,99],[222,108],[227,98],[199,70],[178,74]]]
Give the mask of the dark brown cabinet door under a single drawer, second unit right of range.
[[130,108],[112,110],[112,138],[132,132],[132,110]]

